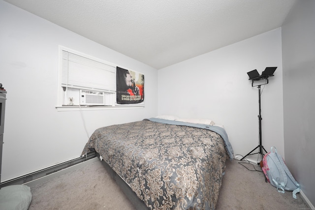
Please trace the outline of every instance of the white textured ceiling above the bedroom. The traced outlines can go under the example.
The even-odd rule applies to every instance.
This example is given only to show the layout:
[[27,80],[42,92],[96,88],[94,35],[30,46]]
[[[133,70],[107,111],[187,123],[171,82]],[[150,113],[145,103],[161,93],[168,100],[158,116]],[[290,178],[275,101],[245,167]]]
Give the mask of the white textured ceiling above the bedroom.
[[282,26],[296,0],[5,0],[160,69]]

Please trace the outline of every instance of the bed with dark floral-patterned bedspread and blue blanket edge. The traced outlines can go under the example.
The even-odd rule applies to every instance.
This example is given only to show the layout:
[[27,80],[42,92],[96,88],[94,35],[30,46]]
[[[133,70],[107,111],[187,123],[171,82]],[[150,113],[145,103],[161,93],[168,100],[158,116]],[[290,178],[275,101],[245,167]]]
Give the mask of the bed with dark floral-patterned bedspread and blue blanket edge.
[[152,210],[215,209],[225,161],[225,130],[150,118],[95,130],[82,155],[95,150]]

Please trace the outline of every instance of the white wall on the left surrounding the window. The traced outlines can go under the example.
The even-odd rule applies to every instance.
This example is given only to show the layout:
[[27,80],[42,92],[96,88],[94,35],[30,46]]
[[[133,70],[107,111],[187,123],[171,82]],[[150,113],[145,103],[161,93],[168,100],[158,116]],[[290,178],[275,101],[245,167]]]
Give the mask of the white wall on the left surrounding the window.
[[145,108],[84,111],[88,133],[154,117],[158,72],[0,0],[0,83],[7,90],[1,181],[79,157],[88,136],[79,111],[58,112],[58,45],[145,75]]

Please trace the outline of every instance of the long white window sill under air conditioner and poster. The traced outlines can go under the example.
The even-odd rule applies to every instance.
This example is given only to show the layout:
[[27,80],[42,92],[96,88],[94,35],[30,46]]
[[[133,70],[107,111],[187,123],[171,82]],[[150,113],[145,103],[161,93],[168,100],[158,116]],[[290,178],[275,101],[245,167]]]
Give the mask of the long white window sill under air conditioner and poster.
[[117,109],[142,109],[144,105],[116,105],[116,106],[56,106],[58,112],[63,111],[91,111],[91,110],[117,110]]

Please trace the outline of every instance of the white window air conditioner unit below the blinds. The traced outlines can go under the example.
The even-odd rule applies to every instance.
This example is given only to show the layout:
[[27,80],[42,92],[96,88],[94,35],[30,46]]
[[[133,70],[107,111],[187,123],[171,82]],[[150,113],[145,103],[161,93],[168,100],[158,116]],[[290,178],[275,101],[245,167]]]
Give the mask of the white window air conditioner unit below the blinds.
[[80,105],[104,105],[104,92],[80,90]]

